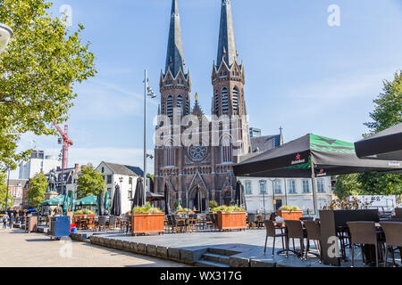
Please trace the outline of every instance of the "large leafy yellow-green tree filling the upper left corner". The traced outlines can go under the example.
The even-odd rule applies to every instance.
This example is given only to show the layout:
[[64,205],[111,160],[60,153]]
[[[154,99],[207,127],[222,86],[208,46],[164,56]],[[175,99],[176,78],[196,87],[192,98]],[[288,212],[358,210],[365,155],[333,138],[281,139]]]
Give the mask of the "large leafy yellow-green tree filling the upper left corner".
[[51,17],[47,0],[2,0],[0,22],[13,37],[0,55],[0,171],[15,169],[28,151],[17,151],[21,134],[56,134],[52,121],[68,118],[73,85],[96,74],[84,27],[69,30]]

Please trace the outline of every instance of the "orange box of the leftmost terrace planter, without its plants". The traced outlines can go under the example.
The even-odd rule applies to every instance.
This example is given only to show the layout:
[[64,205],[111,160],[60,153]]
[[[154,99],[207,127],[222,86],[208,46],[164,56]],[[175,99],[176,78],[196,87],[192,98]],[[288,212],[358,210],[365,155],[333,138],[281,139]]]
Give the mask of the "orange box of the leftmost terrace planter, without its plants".
[[131,234],[164,232],[164,213],[131,215]]

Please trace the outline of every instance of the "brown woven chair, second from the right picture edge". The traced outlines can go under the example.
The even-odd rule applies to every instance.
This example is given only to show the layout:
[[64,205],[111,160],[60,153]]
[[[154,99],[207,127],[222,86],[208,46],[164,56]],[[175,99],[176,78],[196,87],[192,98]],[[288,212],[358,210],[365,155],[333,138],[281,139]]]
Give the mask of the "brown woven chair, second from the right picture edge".
[[364,247],[363,245],[373,245],[375,247],[375,265],[378,267],[378,253],[380,231],[376,231],[375,222],[347,222],[351,236],[352,246],[352,267],[355,266],[355,246],[356,244],[362,245],[362,258],[364,261]]

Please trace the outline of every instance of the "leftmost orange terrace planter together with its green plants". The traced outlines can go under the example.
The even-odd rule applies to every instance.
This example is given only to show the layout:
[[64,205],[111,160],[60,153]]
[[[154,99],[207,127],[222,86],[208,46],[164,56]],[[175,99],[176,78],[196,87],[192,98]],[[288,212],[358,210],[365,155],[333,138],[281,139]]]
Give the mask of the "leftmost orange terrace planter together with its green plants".
[[153,208],[147,203],[144,207],[135,207],[131,215],[131,234],[164,232],[164,213],[160,208]]

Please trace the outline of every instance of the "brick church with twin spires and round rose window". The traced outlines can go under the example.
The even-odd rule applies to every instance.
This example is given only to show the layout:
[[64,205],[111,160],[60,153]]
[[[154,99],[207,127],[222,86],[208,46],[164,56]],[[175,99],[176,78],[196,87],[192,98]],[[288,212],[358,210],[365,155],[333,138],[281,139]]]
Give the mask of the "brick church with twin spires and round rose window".
[[[252,152],[282,143],[281,134],[250,137],[244,93],[245,69],[236,48],[230,0],[222,0],[217,57],[212,67],[211,113],[190,102],[191,78],[181,39],[178,0],[172,0],[165,68],[160,78],[161,102],[155,130],[155,192],[170,192],[171,209],[209,201],[229,205],[237,177],[232,166]],[[196,128],[194,126],[197,126]],[[188,129],[192,129],[188,134]],[[186,139],[187,138],[187,139]],[[253,147],[253,142],[257,147]]]

